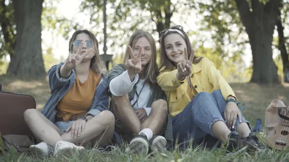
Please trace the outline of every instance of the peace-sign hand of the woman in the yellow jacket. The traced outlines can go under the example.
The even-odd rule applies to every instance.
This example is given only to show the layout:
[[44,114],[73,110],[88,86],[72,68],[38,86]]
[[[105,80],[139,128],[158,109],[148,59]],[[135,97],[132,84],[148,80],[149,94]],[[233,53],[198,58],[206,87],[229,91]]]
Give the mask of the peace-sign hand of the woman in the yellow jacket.
[[192,51],[190,59],[188,60],[187,48],[184,49],[184,59],[177,64],[177,79],[182,81],[192,73],[192,63],[194,51]]

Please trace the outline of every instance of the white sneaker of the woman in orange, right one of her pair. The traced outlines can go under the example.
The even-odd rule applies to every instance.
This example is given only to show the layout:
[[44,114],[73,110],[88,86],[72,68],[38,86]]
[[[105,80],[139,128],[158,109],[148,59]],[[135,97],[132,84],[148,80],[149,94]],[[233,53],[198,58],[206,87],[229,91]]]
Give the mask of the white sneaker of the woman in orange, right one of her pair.
[[57,157],[59,155],[71,154],[74,150],[82,153],[84,152],[84,147],[76,146],[72,142],[58,141],[55,144],[54,156]]

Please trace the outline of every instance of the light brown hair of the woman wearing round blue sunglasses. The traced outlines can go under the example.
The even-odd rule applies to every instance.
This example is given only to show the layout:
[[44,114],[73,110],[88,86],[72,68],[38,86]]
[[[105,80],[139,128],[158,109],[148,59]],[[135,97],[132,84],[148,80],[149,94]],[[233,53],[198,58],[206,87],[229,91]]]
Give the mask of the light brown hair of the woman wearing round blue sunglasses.
[[99,56],[99,51],[98,51],[98,41],[96,40],[96,37],[94,34],[92,34],[90,31],[88,30],[77,30],[73,33],[70,41],[69,41],[69,52],[72,52],[72,47],[73,47],[73,41],[75,41],[76,36],[78,34],[81,33],[85,33],[87,35],[89,35],[90,39],[93,42],[94,48],[95,48],[95,55],[94,57],[91,59],[90,61],[90,68],[97,74],[103,73],[103,74],[107,74],[107,69],[104,65],[104,62],[101,60],[100,56]]

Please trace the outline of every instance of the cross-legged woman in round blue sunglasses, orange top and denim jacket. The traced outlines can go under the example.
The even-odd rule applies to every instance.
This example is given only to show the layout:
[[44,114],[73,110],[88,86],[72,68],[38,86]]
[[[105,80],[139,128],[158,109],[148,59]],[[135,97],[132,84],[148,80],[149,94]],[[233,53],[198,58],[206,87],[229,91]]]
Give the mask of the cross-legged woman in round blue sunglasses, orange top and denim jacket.
[[77,30],[69,41],[66,61],[48,71],[51,96],[40,112],[28,109],[24,119],[40,143],[31,145],[32,154],[47,157],[50,147],[58,156],[75,144],[110,144],[114,115],[108,111],[106,68],[98,52],[96,37],[87,30]]

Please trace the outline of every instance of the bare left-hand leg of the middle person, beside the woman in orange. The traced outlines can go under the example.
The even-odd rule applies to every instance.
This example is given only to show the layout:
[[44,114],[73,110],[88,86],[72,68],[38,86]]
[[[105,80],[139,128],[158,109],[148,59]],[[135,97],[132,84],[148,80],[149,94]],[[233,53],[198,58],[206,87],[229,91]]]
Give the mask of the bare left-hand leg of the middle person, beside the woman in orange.
[[141,121],[134,112],[129,102],[128,95],[126,94],[120,97],[112,96],[112,101],[115,104],[114,111],[128,131],[138,134],[141,131]]

